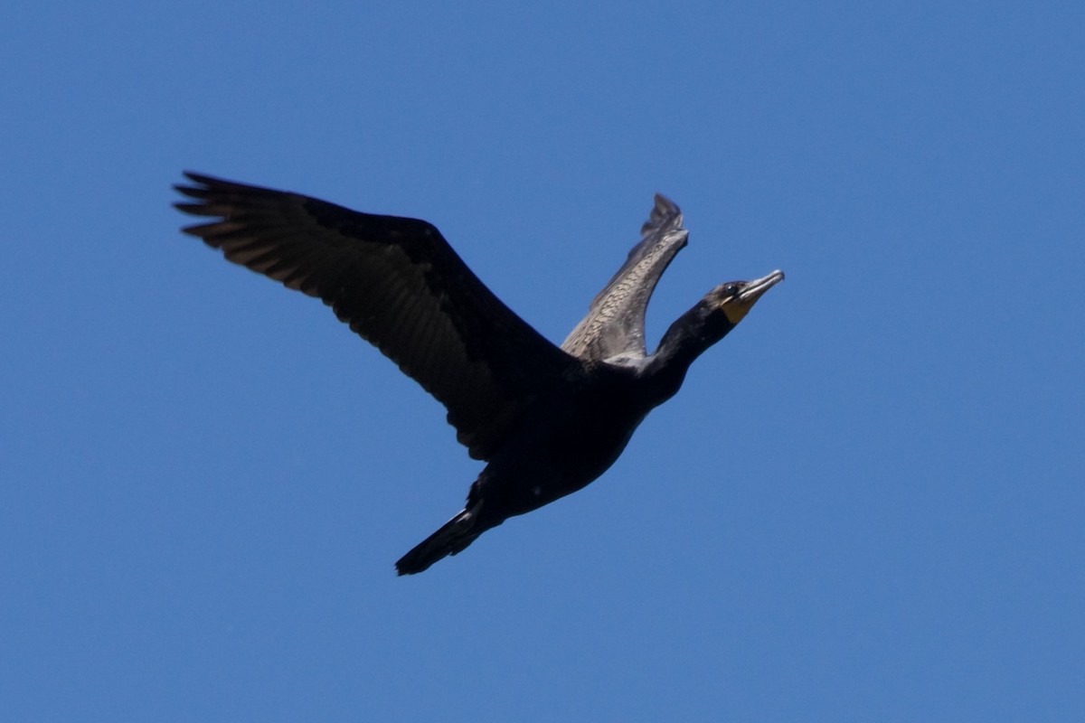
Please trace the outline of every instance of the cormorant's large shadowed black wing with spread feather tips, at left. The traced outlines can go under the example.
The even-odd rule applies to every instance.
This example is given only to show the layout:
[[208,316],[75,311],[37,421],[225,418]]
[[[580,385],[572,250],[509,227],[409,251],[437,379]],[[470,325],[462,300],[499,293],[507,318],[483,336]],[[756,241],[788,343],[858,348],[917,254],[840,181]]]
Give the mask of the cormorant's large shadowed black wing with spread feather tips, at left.
[[323,299],[448,410],[489,459],[524,410],[583,369],[501,302],[432,224],[186,173],[175,186],[216,218],[188,227],[226,258]]

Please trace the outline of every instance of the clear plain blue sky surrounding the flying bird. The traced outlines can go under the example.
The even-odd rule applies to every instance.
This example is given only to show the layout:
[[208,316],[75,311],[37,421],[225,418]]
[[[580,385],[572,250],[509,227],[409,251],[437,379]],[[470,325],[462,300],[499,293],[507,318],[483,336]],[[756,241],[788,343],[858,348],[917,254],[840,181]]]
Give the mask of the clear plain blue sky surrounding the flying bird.
[[[10,721],[1085,720],[1085,11],[16,2]],[[652,193],[658,339],[782,268],[585,491],[422,576],[480,469],[191,168],[425,218],[560,341]]]

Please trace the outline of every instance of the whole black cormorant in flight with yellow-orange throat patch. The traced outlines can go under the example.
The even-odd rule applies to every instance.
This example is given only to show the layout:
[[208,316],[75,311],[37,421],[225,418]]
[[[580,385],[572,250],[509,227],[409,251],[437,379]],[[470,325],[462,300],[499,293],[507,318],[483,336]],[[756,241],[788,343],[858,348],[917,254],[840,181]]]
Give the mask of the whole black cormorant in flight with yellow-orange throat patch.
[[183,229],[226,258],[323,300],[448,411],[486,462],[467,503],[396,563],[421,572],[490,528],[602,475],[690,364],[783,280],[781,271],[710,291],[659,347],[644,310],[687,243],[681,211],[656,195],[640,242],[554,346],[490,292],[426,221],[353,211],[296,193],[186,172],[175,204],[209,222]]

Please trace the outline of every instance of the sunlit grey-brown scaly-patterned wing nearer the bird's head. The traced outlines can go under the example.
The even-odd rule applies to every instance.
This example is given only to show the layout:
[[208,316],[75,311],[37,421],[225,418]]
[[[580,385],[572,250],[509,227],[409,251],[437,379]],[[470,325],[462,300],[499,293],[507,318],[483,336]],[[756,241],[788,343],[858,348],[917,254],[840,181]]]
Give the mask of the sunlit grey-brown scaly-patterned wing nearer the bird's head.
[[629,353],[646,354],[644,310],[655,284],[682,246],[689,232],[681,211],[655,194],[655,207],[640,229],[641,241],[603,291],[591,300],[588,315],[572,331],[561,348],[584,360],[602,360]]

